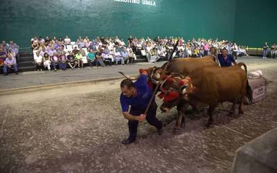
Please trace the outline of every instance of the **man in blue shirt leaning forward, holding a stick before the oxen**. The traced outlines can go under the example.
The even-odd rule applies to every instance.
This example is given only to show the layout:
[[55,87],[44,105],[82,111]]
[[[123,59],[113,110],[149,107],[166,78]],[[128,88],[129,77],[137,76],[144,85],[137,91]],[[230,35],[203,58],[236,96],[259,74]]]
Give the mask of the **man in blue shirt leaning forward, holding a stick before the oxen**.
[[[136,140],[136,132],[139,121],[147,120],[150,125],[158,129],[158,134],[161,135],[163,123],[156,118],[157,104],[152,101],[150,109],[145,114],[144,111],[150,102],[152,89],[148,86],[148,73],[145,71],[136,82],[125,79],[120,83],[122,91],[120,95],[120,104],[123,111],[123,116],[128,120],[129,137],[123,140],[122,143],[127,145]],[[131,106],[128,112],[129,106]]]

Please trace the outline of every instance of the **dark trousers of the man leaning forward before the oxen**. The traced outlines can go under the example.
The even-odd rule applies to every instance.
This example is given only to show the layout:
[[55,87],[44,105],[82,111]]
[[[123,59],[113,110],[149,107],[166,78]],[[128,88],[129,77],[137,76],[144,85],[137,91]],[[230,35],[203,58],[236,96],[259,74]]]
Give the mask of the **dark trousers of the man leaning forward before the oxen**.
[[[152,102],[148,112],[146,113],[146,120],[150,125],[153,125],[157,129],[161,129],[163,123],[156,118],[156,111],[157,111],[157,104],[156,102]],[[133,116],[140,116],[141,113],[144,113],[144,109],[136,109],[131,107],[130,114]],[[129,120],[128,127],[129,127],[129,140],[134,140],[136,138],[136,133],[138,129],[139,121],[138,120]]]

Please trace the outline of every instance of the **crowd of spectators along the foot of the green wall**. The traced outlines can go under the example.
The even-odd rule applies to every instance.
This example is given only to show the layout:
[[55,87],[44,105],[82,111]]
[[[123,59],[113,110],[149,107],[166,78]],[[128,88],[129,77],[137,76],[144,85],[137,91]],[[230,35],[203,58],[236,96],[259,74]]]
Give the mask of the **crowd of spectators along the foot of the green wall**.
[[[177,43],[177,40],[179,42]],[[65,71],[67,68],[84,68],[89,66],[111,66],[112,64],[134,64],[137,56],[146,56],[148,62],[168,60],[175,44],[177,49],[173,57],[203,57],[214,55],[222,49],[235,60],[238,56],[247,55],[247,47],[240,46],[227,40],[218,39],[191,39],[185,41],[182,37],[156,37],[154,39],[130,36],[125,43],[118,37],[79,37],[73,42],[69,36],[62,38],[33,37],[31,40],[34,62],[37,71],[44,69],[51,71]],[[264,58],[267,55],[267,43],[263,46]],[[276,46],[271,46],[271,57],[276,57]],[[17,62],[20,61],[19,46],[10,41],[0,45],[0,67],[4,75],[13,69],[17,73]]]

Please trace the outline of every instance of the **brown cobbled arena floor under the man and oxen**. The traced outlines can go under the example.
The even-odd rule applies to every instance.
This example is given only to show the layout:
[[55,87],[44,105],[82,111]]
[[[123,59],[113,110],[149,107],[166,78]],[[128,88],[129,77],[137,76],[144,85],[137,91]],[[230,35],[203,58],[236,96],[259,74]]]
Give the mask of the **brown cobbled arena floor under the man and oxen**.
[[[128,131],[118,101],[120,80],[0,95],[0,172],[231,172],[236,149],[277,127],[277,60],[240,61],[269,80],[265,100],[233,118],[226,116],[231,104],[224,103],[211,128],[204,126],[206,111],[190,114],[179,135],[172,134],[177,111],[158,110],[164,134],[142,122],[136,142],[127,146],[121,144]],[[24,76],[21,83],[30,78]]]

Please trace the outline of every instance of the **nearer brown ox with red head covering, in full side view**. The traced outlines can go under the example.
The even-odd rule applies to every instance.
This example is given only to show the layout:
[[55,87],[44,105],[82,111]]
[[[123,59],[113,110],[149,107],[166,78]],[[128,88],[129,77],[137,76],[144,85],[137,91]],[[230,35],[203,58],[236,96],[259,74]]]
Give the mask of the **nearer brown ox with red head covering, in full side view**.
[[[244,66],[244,70],[241,69]],[[213,111],[219,102],[233,102],[231,113],[235,113],[235,103],[240,100],[239,113],[243,114],[243,98],[252,100],[252,91],[247,80],[247,66],[239,63],[235,66],[204,66],[190,73],[188,77],[163,77],[161,84],[163,98],[161,111],[169,111],[177,106],[178,118],[175,131],[184,122],[184,112],[189,105],[199,104],[208,107],[208,125],[213,124]]]

